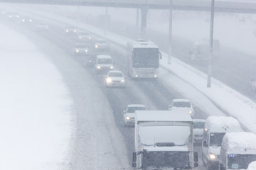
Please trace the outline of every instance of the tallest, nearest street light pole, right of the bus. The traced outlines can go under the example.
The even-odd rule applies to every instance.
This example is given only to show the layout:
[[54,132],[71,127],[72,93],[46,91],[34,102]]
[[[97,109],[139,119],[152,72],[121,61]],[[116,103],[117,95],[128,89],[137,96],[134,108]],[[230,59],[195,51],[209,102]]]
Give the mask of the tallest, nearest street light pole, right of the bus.
[[213,65],[213,19],[214,19],[214,1],[211,1],[211,10],[210,10],[210,61],[208,63],[208,78],[207,78],[207,87],[210,88],[211,84],[211,75],[212,75],[212,65]]

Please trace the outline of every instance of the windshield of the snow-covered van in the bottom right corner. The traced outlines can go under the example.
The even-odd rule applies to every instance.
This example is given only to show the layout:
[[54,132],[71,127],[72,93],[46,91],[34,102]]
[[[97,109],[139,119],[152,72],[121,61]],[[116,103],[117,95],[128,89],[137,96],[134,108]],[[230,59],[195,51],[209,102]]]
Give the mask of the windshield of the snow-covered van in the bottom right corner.
[[228,169],[247,169],[256,161],[256,154],[228,154]]

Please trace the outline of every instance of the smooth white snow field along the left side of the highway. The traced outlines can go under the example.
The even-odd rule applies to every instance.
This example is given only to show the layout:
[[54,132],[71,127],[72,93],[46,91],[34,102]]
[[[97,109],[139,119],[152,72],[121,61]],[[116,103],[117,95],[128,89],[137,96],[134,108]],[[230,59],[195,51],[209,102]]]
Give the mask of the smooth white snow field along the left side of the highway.
[[75,134],[68,89],[28,39],[0,30],[0,169],[63,169]]

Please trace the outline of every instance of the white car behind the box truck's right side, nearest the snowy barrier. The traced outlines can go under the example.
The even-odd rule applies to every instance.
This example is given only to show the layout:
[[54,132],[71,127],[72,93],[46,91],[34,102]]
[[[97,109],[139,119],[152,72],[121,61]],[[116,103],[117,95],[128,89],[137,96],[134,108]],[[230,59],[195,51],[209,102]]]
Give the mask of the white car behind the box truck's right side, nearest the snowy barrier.
[[188,111],[191,118],[195,117],[195,111],[193,108],[194,106],[192,106],[191,101],[188,99],[174,99],[171,102],[171,105],[168,106],[168,109],[172,111]]

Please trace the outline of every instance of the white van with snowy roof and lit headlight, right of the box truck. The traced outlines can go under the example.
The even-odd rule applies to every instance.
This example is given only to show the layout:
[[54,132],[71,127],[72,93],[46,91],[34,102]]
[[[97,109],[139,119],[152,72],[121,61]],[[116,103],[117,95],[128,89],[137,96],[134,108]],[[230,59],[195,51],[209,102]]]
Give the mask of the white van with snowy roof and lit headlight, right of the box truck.
[[225,116],[209,116],[203,130],[202,162],[207,169],[218,169],[220,146],[226,132],[242,132],[238,120]]

